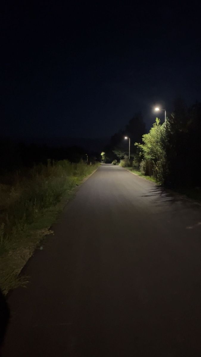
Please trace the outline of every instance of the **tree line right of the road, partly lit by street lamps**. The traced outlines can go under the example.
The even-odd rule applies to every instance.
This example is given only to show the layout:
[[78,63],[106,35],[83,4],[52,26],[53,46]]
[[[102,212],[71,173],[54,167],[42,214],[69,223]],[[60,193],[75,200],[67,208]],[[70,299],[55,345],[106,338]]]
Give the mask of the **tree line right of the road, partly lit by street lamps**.
[[[128,142],[131,139],[131,159]],[[133,166],[144,175],[154,176],[167,187],[201,186],[201,103],[187,106],[175,100],[165,123],[156,118],[151,129],[141,114],[136,114],[124,129],[111,137],[105,147],[106,160],[121,160],[122,166]],[[107,161],[106,161],[107,162]]]

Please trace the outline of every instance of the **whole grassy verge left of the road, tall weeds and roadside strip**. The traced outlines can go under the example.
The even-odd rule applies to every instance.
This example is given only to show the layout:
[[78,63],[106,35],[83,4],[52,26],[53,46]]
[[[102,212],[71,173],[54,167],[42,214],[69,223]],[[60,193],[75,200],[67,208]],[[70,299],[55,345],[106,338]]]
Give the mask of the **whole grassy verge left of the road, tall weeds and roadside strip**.
[[77,185],[98,165],[63,160],[0,177],[0,287],[5,294],[26,282],[19,277],[21,269],[44,236],[53,234],[49,227]]

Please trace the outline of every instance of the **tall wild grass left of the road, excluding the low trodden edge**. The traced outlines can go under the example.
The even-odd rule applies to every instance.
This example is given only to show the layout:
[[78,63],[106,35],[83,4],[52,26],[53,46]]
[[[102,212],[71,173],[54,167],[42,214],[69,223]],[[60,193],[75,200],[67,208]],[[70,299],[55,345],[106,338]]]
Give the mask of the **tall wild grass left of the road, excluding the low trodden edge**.
[[[48,208],[57,205],[98,164],[62,160],[0,177],[0,255]],[[8,184],[9,182],[9,184]]]

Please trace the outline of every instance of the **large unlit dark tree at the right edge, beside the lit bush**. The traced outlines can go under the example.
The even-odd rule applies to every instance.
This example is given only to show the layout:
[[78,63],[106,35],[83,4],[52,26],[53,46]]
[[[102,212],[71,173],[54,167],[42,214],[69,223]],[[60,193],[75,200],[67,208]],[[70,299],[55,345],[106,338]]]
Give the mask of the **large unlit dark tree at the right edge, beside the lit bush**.
[[181,99],[175,100],[174,111],[167,121],[167,171],[165,185],[173,188],[200,187],[201,157],[201,103],[187,107]]

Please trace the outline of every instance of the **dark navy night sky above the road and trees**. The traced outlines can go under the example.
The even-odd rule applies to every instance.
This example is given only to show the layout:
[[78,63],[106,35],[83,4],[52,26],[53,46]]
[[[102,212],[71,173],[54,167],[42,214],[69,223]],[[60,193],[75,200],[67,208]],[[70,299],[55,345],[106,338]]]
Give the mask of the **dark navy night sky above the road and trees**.
[[198,4],[3,1],[1,133],[109,137],[201,100]]

